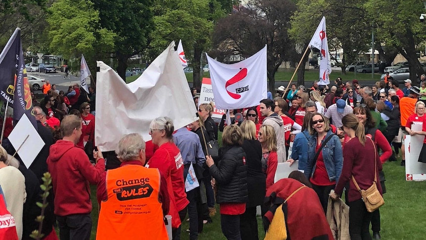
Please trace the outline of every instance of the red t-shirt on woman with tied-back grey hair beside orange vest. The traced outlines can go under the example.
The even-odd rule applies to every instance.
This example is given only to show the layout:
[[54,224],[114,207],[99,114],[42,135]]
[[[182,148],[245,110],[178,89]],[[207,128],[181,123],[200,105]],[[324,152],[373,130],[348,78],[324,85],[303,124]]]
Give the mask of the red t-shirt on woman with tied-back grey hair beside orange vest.
[[173,143],[162,144],[154,152],[146,166],[158,168],[168,182],[169,194],[174,196],[176,210],[184,209],[189,201],[186,199],[185,182],[183,180],[183,159],[179,148]]

